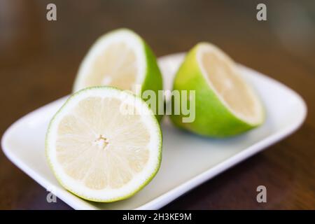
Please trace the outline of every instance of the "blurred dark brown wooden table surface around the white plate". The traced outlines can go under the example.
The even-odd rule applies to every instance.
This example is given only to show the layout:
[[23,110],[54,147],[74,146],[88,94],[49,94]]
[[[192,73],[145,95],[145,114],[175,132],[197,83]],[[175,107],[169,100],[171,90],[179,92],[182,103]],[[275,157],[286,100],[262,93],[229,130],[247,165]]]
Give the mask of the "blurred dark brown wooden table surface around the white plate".
[[[45,19],[47,3],[57,21]],[[71,92],[93,41],[118,27],[134,29],[157,56],[210,41],[281,81],[307,102],[295,134],[241,162],[164,209],[315,209],[315,4],[264,1],[22,1],[0,0],[0,134],[15,120]],[[267,203],[256,188],[267,187]],[[0,152],[0,209],[71,209]]]

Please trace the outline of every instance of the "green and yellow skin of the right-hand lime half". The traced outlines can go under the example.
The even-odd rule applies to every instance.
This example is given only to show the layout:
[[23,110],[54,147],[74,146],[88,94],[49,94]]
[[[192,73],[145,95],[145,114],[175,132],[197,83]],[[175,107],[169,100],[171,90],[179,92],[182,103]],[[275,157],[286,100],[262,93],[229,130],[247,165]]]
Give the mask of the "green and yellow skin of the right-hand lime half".
[[[174,90],[195,90],[195,120],[183,123],[183,114],[170,116],[177,127],[206,137],[231,137],[259,124],[251,125],[237,118],[208,85],[197,62],[198,44],[188,52],[174,79]],[[172,102],[174,106],[174,102]]]

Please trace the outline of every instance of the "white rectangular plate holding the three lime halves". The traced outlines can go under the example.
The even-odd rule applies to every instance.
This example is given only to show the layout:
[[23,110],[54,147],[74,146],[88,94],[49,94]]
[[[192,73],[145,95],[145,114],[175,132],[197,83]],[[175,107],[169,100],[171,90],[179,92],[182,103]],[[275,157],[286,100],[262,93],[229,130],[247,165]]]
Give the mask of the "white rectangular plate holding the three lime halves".
[[[160,58],[165,89],[172,87],[183,54]],[[207,139],[177,130],[168,119],[162,123],[163,155],[153,181],[133,197],[113,203],[81,200],[59,186],[45,160],[45,132],[52,115],[66,97],[29,113],[11,125],[1,145],[6,156],[41,186],[74,209],[159,209],[251,155],[283,139],[302,124],[307,108],[301,97],[281,83],[240,66],[265,105],[267,120],[255,130],[230,139]]]

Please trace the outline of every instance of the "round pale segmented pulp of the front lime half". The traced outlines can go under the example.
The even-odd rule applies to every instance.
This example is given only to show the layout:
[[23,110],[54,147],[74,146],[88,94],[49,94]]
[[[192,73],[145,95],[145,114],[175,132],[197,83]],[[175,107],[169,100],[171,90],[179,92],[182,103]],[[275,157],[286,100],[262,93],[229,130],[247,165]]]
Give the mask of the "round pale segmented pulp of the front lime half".
[[87,188],[120,188],[148,162],[150,133],[141,116],[119,113],[120,104],[120,99],[87,97],[57,127],[59,165]]

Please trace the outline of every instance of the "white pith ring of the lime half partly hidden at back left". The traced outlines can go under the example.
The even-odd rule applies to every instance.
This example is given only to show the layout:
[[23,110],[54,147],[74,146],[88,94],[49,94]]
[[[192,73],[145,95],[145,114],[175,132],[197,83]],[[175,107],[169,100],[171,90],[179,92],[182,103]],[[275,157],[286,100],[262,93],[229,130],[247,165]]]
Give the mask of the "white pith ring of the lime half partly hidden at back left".
[[[74,92],[77,92],[78,90],[81,90],[85,87],[91,87],[87,85],[87,80],[90,78],[89,75],[90,71],[92,71],[93,63],[99,57],[102,57],[102,55],[104,55],[104,52],[106,52],[106,50],[108,50],[111,46],[119,43],[123,43],[124,45],[126,45],[128,49],[134,52],[134,55],[136,57],[135,67],[137,68],[137,74],[135,77],[135,81],[134,83],[128,83],[130,84],[130,87],[127,88],[134,92],[136,91],[135,85],[141,85],[144,82],[144,78],[146,76],[146,52],[144,48],[144,42],[133,31],[130,31],[128,29],[119,29],[118,31],[113,31],[109,34],[104,34],[104,36],[98,38],[97,41],[92,45],[89,52],[87,52],[87,55],[83,59],[83,62],[80,64],[77,78],[73,86]],[[118,55],[122,55],[116,62],[117,64],[119,64],[121,63],[121,60],[123,60],[123,55],[125,52],[117,53]],[[106,63],[104,62],[104,64]],[[116,74],[113,73],[107,75],[115,76]],[[94,86],[111,85],[111,77],[109,76],[105,76],[102,81],[99,81],[99,83],[97,83]],[[122,87],[119,86],[114,85],[111,86],[122,89]]]

